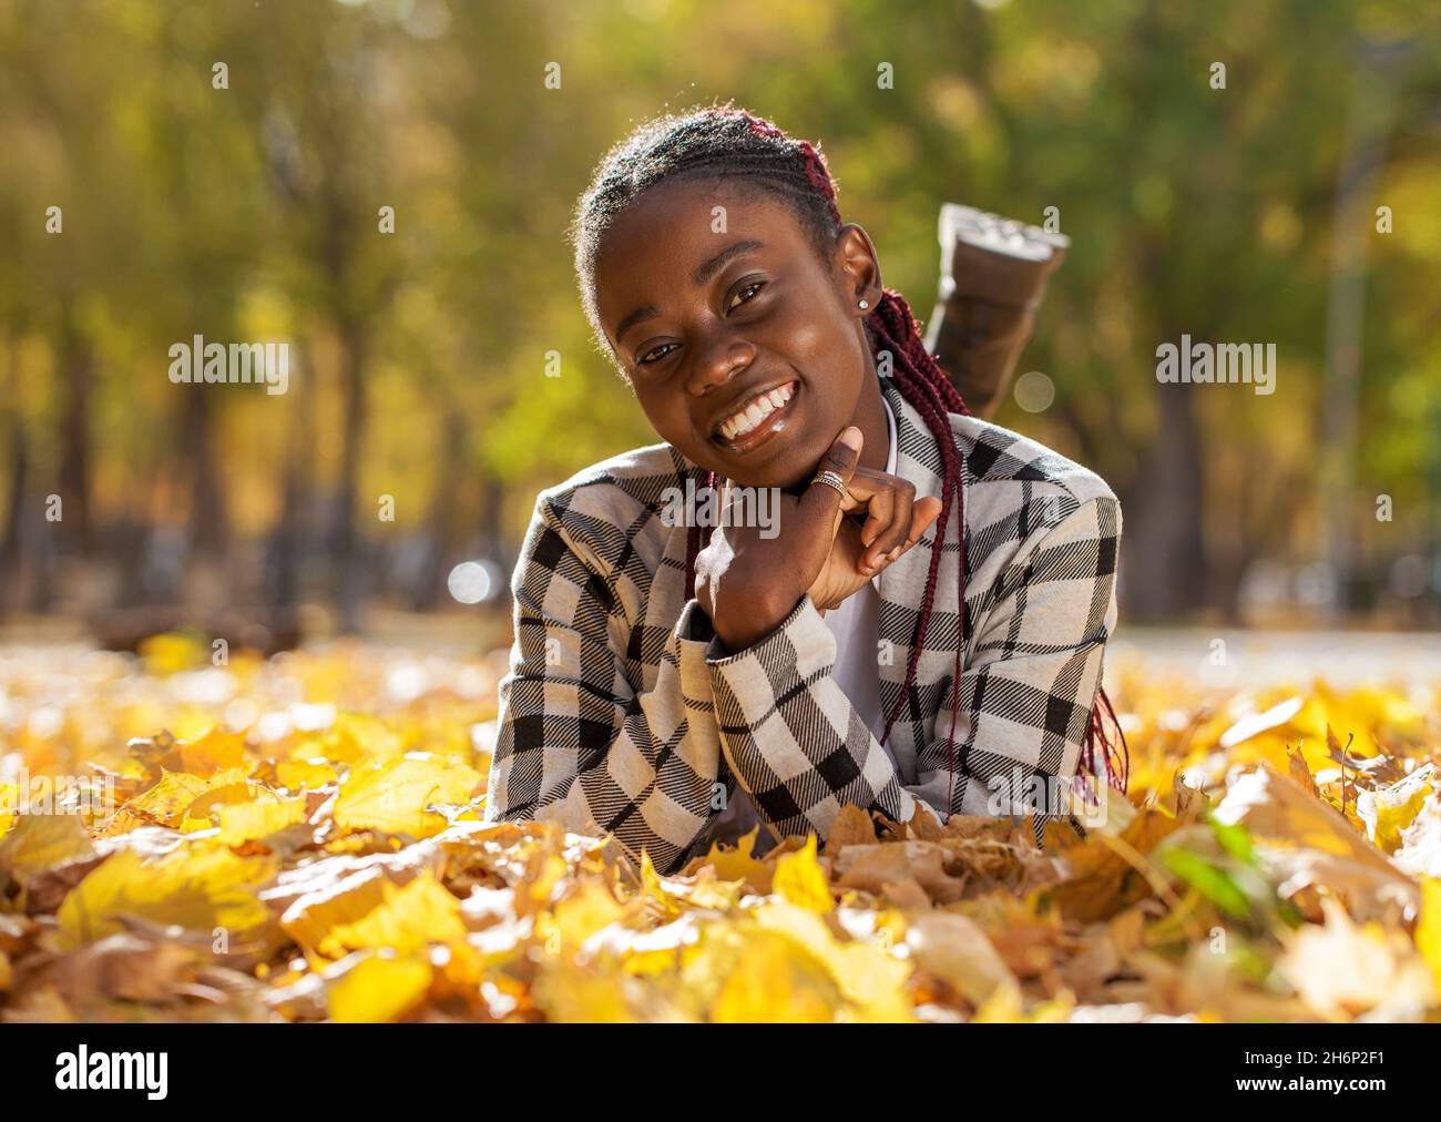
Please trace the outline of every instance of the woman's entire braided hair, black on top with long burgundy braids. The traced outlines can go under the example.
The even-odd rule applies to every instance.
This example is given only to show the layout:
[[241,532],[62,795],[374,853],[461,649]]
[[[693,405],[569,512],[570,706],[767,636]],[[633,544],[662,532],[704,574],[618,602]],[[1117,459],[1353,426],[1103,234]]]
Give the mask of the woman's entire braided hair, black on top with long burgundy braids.
[[[729,102],[696,110],[682,117],[657,117],[640,125],[601,160],[591,186],[581,196],[568,231],[575,248],[575,271],[581,287],[582,307],[597,345],[617,366],[623,378],[627,374],[618,356],[604,346],[605,332],[601,326],[595,296],[595,265],[601,241],[615,218],[657,183],[715,182],[720,179],[733,180],[729,186],[741,192],[762,193],[785,203],[795,215],[800,229],[820,260],[829,262],[831,258],[834,241],[843,224],[840,209],[836,205],[836,183],[826,164],[826,157],[817,147],[806,140],[788,137],[765,118],[736,110]],[[879,358],[883,352],[889,352],[892,381],[901,397],[921,415],[935,437],[942,463],[941,513],[935,524],[937,541],[931,549],[925,598],[916,617],[911,653],[906,659],[905,682],[895,705],[886,714],[880,743],[885,743],[891,736],[891,728],[915,682],[916,663],[935,603],[945,528],[954,505],[960,536],[957,542],[960,548],[957,603],[960,604],[961,627],[960,642],[955,646],[955,672],[951,678],[951,727],[947,733],[947,741],[951,774],[948,790],[953,800],[950,813],[955,813],[960,809],[955,805],[955,712],[960,708],[961,652],[965,646],[965,495],[961,486],[961,453],[955,446],[948,414],[971,415],[971,411],[945,371],[925,349],[921,330],[901,293],[882,288],[880,301],[873,314],[867,316],[863,323],[872,356]],[[715,472],[706,474],[706,486],[716,486]],[[695,591],[696,555],[705,548],[709,535],[710,528],[702,529],[693,525],[687,536],[686,587],[692,590],[692,594]],[[1102,711],[1120,738],[1120,748],[1102,721]],[[1087,725],[1081,756],[1081,770],[1085,774],[1099,774],[1097,770],[1098,748],[1102,753],[1111,785],[1124,792],[1130,770],[1125,736],[1104,689],[1098,694]]]

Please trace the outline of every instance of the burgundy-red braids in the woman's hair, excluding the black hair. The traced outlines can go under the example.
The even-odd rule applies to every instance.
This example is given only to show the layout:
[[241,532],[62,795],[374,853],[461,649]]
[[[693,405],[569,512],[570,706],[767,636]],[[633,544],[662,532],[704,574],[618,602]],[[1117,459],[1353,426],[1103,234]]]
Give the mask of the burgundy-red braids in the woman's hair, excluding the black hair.
[[[842,225],[840,208],[836,202],[836,183],[826,164],[826,157],[818,149],[811,146],[808,141],[787,137],[784,131],[765,118],[755,117],[744,110],[732,108],[731,105],[712,107],[700,111],[696,117],[722,118],[728,121],[742,120],[749,125],[749,130],[755,136],[790,144],[791,149],[803,157],[806,179],[816,195],[824,200],[826,212],[830,219],[834,222],[836,228]],[[611,206],[620,205],[624,205],[621,199],[611,202]],[[921,415],[927,428],[931,431],[931,436],[935,437],[942,463],[941,515],[935,524],[937,532],[935,542],[931,549],[931,565],[927,573],[925,598],[921,604],[921,614],[916,619],[915,636],[911,642],[911,653],[906,658],[905,682],[902,684],[901,695],[896,698],[895,705],[892,705],[891,712],[886,714],[880,743],[883,744],[891,736],[891,728],[895,725],[895,721],[901,714],[901,708],[915,684],[916,665],[921,658],[921,649],[925,645],[927,629],[929,627],[932,609],[935,606],[935,588],[941,570],[941,549],[947,526],[950,525],[951,506],[954,503],[958,534],[957,545],[960,549],[955,590],[960,610],[960,633],[955,645],[955,671],[951,676],[951,727],[947,733],[950,772],[947,790],[951,798],[950,812],[954,813],[960,809],[955,798],[955,715],[960,711],[963,671],[961,655],[965,648],[967,565],[963,463],[961,453],[955,447],[950,414],[955,412],[963,417],[968,417],[971,415],[971,411],[967,408],[960,391],[947,376],[945,371],[925,349],[925,340],[922,339],[921,330],[915,323],[915,317],[911,314],[911,306],[901,293],[892,288],[882,288],[880,301],[876,304],[875,314],[869,317],[866,326],[872,343],[872,355],[878,356],[882,350],[891,352],[892,381],[901,392],[901,397]],[[708,472],[705,476],[705,485],[708,487],[715,487],[716,482],[716,473]],[[686,587],[692,596],[695,596],[696,557],[710,539],[712,529],[713,528],[702,529],[700,526],[692,526],[686,538]],[[1115,738],[1120,740],[1118,747],[1115,738],[1112,738],[1107,730],[1102,712],[1107,718],[1110,718],[1111,728],[1115,730]],[[1098,691],[1097,702],[1091,711],[1082,744],[1079,769],[1089,776],[1098,776],[1097,746],[1101,746],[1102,748],[1102,766],[1107,769],[1108,783],[1124,793],[1130,779],[1130,751],[1125,744],[1125,733],[1121,730],[1121,724],[1115,717],[1115,710],[1111,707],[1110,698],[1105,695],[1105,689]]]

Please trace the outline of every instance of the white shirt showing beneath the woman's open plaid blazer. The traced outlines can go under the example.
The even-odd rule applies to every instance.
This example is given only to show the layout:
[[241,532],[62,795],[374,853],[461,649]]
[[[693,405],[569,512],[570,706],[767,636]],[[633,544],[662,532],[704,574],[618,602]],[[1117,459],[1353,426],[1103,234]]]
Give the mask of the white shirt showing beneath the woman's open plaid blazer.
[[[891,402],[882,395],[880,407],[886,411],[886,433],[891,440],[891,451],[886,453],[886,473],[896,473],[896,418],[891,411]],[[836,665],[831,666],[831,676],[842,692],[856,707],[856,712],[870,727],[870,736],[880,740],[885,730],[885,714],[880,711],[880,671],[879,649],[876,643],[880,637],[880,586],[878,573],[866,581],[857,591],[847,596],[837,607],[826,613],[826,626],[836,636]],[[882,744],[891,763],[896,761],[889,744]],[[759,822],[755,813],[755,803],[741,787],[735,789],[729,805],[716,819],[715,832],[723,838],[733,838],[745,834]],[[764,854],[774,842],[762,828],[757,836],[755,852]]]

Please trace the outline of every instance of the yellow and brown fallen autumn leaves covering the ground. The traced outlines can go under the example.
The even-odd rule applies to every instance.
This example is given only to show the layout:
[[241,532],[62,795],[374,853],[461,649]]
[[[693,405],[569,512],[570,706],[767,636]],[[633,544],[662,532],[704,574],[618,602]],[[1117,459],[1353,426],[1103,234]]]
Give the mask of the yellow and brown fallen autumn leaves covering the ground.
[[500,658],[143,653],[0,656],[0,776],[118,805],[0,779],[3,1020],[1441,1014],[1435,694],[1123,672],[1130,798],[1085,841],[850,808],[667,877],[481,822]]

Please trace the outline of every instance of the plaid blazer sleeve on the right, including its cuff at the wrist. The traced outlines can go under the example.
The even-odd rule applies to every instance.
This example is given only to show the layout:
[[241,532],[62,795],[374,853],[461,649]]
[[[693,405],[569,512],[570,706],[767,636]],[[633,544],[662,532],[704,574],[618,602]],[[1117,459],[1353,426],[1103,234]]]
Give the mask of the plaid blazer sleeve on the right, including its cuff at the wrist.
[[810,597],[746,650],[716,640],[708,666],[720,746],[759,815],[781,835],[824,838],[847,802],[902,822],[918,803],[941,821],[1035,813],[1039,844],[1101,685],[1120,534],[1120,505],[1098,496],[1022,544],[974,620],[955,710],[945,679],[914,783],[831,676],[836,640]]

